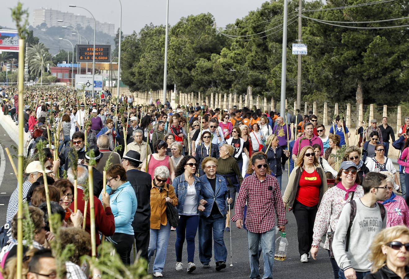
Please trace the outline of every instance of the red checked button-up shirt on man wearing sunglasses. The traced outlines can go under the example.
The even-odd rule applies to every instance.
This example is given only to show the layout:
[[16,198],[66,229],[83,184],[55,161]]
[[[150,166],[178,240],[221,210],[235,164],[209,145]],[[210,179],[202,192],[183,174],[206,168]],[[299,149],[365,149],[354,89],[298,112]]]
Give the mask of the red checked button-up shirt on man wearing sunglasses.
[[[269,187],[271,190],[269,190]],[[259,181],[256,174],[243,179],[240,192],[234,204],[234,216],[231,221],[243,220],[244,205],[247,202],[247,215],[245,225],[249,232],[263,233],[271,230],[275,225],[274,217],[277,215],[277,225],[288,223],[285,219],[285,210],[281,191],[277,179],[265,175],[264,181]]]

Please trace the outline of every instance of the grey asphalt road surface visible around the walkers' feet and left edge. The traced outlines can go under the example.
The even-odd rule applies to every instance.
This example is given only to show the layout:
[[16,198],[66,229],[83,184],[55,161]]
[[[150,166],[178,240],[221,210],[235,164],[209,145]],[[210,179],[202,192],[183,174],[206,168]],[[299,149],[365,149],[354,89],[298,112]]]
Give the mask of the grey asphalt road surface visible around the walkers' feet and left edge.
[[[7,205],[13,190],[17,185],[17,178],[9,162],[9,158],[4,152],[4,147],[9,147],[10,152],[13,150],[10,145],[16,145],[0,125],[0,224],[3,225],[6,220]],[[13,160],[17,165],[17,160]],[[284,193],[287,185],[287,170],[283,173],[282,193]],[[333,278],[333,272],[328,254],[326,250],[319,250],[318,259],[315,261],[312,258],[308,263],[300,263],[297,242],[297,224],[292,213],[287,213],[288,225],[286,226],[287,239],[289,242],[287,259],[285,261],[274,261],[273,277],[282,279],[330,279]],[[187,251],[186,242],[184,243],[184,254],[182,257],[183,271],[175,270],[176,255],[175,255],[175,240],[176,232],[172,231],[169,239],[169,246],[167,250],[166,263],[163,270],[164,278],[249,278],[250,266],[248,256],[248,241],[247,232],[243,229],[237,229],[234,223],[231,223],[231,242],[232,242],[232,261],[233,266],[230,267],[230,239],[229,233],[225,232],[225,243],[227,247],[227,268],[220,272],[215,270],[216,264],[213,259],[210,263],[211,268],[204,269],[199,260],[198,254],[198,235],[196,235],[196,250],[194,262],[196,263],[196,270],[189,274],[187,269]],[[278,235],[276,235],[278,237]],[[131,257],[133,252],[131,252]],[[153,259],[151,259],[152,262]],[[263,276],[263,256],[260,258],[261,276]],[[152,265],[149,266],[149,272],[152,272]],[[151,273],[152,274],[152,273]]]

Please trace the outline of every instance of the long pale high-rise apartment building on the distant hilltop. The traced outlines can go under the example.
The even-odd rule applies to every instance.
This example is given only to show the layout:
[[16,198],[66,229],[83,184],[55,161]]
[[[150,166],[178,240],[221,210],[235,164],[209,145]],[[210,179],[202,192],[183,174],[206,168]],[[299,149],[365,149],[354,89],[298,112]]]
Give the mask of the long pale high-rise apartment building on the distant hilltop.
[[[86,26],[90,26],[94,28],[94,19],[88,18],[86,16],[81,16],[75,13],[68,13],[53,9],[35,9],[34,10],[34,20],[33,26],[36,27],[41,23],[45,22],[48,27],[52,26],[61,26],[61,22],[57,22],[57,20],[64,20],[64,22],[71,22],[72,25],[81,25],[81,27],[85,28]],[[67,24],[68,25],[68,24]],[[97,20],[97,31],[107,33],[111,36],[115,36],[115,25],[109,22],[99,22]]]

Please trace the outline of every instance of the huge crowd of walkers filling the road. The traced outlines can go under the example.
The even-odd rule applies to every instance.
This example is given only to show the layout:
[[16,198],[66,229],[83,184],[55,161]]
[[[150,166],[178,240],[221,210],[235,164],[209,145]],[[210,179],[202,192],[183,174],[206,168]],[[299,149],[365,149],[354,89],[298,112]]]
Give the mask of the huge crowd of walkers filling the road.
[[[28,90],[24,123],[19,123],[30,135],[24,218],[36,227],[33,245],[24,244],[31,259],[27,278],[55,275],[40,271],[46,267],[40,259],[54,258],[49,250],[53,241],[75,246],[76,256],[66,261],[67,278],[101,277],[80,260],[90,254],[91,235],[97,246],[113,243],[125,265],[135,245],[150,263],[149,272],[162,277],[172,230],[176,270],[194,272],[198,252],[202,268],[211,268],[213,257],[215,269],[222,271],[227,261],[223,236],[231,221],[247,230],[249,277],[261,278],[262,254],[263,278],[273,278],[275,236],[285,232],[290,212],[301,263],[316,259],[321,247],[335,279],[409,278],[409,118],[395,141],[387,117],[379,127],[375,119],[370,127],[362,123],[351,135],[337,116],[326,134],[312,112],[302,116],[296,110],[283,117],[256,107],[221,110],[189,102],[173,108],[167,100],[138,105],[133,96],[117,99],[109,92],[92,98],[89,92],[74,96],[62,87],[41,90]],[[16,90],[4,87],[0,94],[3,113],[17,121]],[[357,146],[350,144],[351,136],[360,138]],[[389,143],[400,150],[400,170],[387,156]],[[89,165],[95,226],[83,201]],[[288,184],[282,185],[286,168]],[[47,227],[47,195],[52,212],[61,214],[60,239]],[[16,268],[17,197],[16,189],[2,228],[11,231],[0,241],[0,264],[8,272],[4,278],[13,278]],[[185,242],[187,263],[182,262]]]

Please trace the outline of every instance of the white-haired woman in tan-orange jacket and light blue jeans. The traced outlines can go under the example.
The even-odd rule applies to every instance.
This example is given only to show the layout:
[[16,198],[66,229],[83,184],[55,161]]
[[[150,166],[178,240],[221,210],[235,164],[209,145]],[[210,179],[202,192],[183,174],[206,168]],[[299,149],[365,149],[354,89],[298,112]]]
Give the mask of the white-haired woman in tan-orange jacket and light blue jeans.
[[153,173],[151,188],[151,230],[148,247],[148,259],[155,254],[153,261],[153,276],[162,277],[165,266],[166,252],[168,249],[169,234],[171,225],[166,218],[166,201],[172,205],[178,205],[178,198],[175,189],[166,181],[170,176],[169,170],[165,166],[159,166]]

